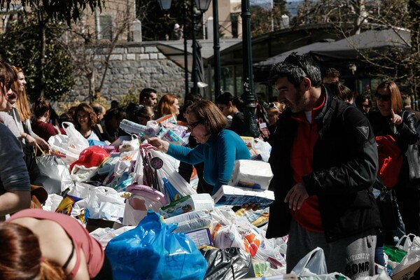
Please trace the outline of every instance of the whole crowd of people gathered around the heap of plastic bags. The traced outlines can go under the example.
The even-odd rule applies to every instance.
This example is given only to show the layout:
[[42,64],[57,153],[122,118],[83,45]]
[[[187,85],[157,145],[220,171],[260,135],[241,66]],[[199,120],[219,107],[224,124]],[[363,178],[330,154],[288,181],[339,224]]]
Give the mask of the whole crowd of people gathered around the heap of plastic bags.
[[[174,116],[188,127],[188,146],[158,137],[148,143],[180,160],[179,173],[186,181],[195,167],[198,193],[216,193],[230,181],[235,160],[250,158],[240,137],[243,102],[230,92],[215,103],[189,94],[180,106],[175,94],[158,100],[157,90],[144,88],[139,103],[127,109],[115,100],[109,110],[81,103],[55,116],[44,99],[29,106],[25,74],[19,67],[0,61],[0,83],[0,217],[4,221],[11,215],[7,223],[0,223],[0,247],[8,248],[0,253],[2,279],[112,278],[104,251],[80,224],[62,214],[25,210],[31,205],[36,147],[48,150],[48,139],[65,133],[63,123],[73,123],[87,140],[110,144],[127,135],[120,129],[123,119],[147,125]],[[337,70],[321,73],[307,54],[293,53],[274,64],[269,83],[278,96],[268,103],[264,94],[255,96],[259,137],[272,146],[269,165],[274,177],[269,189],[275,201],[267,237],[288,235],[288,272],[309,251],[321,247],[328,272],[351,279],[374,275],[374,263],[384,264],[378,248],[393,245],[395,235],[381,230],[373,188],[379,170],[375,137],[391,135],[401,150],[402,167],[393,190],[402,230],[420,236],[420,190],[409,180],[405,154],[419,141],[420,113],[409,108],[409,97],[393,81],[377,86],[373,103],[369,94],[354,94],[341,83]]]

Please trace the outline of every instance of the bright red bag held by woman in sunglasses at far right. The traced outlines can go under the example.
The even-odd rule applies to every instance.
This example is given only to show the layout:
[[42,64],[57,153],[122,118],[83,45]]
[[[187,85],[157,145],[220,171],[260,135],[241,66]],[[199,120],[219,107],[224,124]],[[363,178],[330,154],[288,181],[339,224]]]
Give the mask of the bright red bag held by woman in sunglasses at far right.
[[378,176],[386,188],[393,188],[398,183],[402,165],[401,149],[391,135],[377,136],[379,155]]

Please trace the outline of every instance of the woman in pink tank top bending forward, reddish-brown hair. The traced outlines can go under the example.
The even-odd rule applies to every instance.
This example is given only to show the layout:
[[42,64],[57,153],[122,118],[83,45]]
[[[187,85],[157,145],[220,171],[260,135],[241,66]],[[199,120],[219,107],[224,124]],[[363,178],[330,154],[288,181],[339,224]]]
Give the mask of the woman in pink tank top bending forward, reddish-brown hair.
[[0,279],[113,279],[101,244],[64,214],[14,214],[0,223],[0,248]]

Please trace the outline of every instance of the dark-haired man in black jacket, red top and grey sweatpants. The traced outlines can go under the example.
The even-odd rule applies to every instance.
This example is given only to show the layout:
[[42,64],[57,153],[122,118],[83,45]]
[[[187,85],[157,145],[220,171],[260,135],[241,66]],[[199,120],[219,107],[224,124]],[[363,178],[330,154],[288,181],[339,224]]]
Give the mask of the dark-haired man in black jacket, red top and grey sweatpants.
[[372,276],[381,224],[372,195],[377,146],[367,118],[321,85],[309,55],[289,55],[272,67],[270,80],[288,109],[269,158],[276,200],[267,237],[289,235],[288,272],[318,246],[328,272]]

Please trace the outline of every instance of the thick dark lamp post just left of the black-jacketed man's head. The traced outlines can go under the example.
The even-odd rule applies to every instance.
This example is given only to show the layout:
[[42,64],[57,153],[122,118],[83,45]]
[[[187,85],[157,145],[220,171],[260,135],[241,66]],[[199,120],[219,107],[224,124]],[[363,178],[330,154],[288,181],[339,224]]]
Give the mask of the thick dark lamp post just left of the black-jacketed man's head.
[[252,47],[251,47],[251,9],[249,0],[241,0],[242,18],[242,57],[244,76],[242,83],[244,92],[244,136],[258,137],[258,127],[255,122],[255,97],[252,74]]

